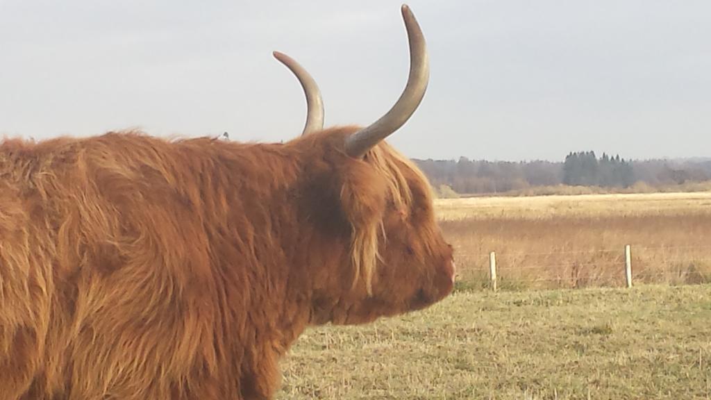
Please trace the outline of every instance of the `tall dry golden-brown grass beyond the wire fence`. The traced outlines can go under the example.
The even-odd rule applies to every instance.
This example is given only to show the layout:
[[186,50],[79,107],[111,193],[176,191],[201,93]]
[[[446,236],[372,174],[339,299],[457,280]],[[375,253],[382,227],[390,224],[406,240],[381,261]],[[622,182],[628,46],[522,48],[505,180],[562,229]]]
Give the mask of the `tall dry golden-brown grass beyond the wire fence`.
[[488,285],[496,252],[503,288],[711,281],[711,192],[439,199],[460,286]]

